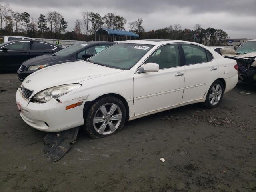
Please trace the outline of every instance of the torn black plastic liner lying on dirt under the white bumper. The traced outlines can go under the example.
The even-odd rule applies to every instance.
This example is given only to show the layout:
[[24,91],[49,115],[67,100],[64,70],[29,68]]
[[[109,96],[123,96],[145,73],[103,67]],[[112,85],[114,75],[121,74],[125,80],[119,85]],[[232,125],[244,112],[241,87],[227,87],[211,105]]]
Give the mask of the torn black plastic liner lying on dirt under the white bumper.
[[52,162],[60,160],[70,149],[70,143],[76,142],[79,127],[68,129],[61,132],[48,133],[44,138],[44,153]]

